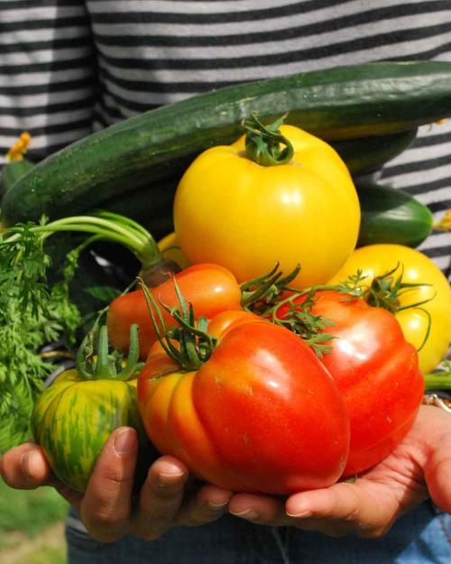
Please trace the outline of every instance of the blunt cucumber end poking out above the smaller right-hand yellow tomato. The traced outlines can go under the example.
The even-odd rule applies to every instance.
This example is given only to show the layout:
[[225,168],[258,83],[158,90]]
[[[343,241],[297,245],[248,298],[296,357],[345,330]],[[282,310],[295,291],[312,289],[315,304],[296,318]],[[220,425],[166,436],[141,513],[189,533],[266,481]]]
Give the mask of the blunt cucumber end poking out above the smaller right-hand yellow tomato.
[[432,231],[427,206],[403,190],[355,180],[362,219],[357,246],[397,243],[417,247]]

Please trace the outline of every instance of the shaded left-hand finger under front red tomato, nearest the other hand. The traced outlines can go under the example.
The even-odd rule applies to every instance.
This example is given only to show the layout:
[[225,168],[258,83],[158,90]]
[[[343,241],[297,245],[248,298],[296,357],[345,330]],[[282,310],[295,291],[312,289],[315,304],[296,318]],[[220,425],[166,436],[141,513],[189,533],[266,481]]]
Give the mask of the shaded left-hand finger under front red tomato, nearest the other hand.
[[202,485],[194,495],[185,495],[175,524],[198,526],[219,519],[228,509],[232,492],[216,485]]

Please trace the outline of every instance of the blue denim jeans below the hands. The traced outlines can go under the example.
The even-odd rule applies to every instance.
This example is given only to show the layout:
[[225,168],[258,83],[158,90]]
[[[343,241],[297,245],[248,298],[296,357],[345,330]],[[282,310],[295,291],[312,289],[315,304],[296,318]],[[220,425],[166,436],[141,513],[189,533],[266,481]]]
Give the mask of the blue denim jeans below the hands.
[[264,527],[226,515],[180,527],[157,541],[132,536],[104,544],[66,529],[69,564],[450,564],[451,516],[430,502],[402,516],[382,539],[331,538],[292,527]]

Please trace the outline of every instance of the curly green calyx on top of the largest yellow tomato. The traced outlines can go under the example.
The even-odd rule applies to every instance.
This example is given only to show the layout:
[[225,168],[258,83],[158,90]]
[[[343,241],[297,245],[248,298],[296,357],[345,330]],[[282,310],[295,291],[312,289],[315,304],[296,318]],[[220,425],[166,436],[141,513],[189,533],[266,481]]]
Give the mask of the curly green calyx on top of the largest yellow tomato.
[[270,125],[263,125],[252,113],[243,125],[247,130],[245,146],[246,156],[262,166],[276,166],[291,161],[294,149],[290,141],[281,134],[279,127],[286,116],[282,116]]

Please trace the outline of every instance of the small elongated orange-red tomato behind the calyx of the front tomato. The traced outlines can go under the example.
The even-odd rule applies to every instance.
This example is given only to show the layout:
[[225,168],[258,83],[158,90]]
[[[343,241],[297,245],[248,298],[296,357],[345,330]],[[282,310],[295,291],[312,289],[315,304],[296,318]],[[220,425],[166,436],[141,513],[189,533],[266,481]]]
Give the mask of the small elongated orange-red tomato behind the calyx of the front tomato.
[[[211,318],[224,310],[241,310],[241,291],[235,276],[217,264],[196,264],[175,275],[179,289],[186,300],[193,304],[198,317]],[[171,308],[179,305],[172,278],[151,289],[158,302]],[[168,325],[174,320],[161,309]],[[152,318],[142,290],[130,291],[113,300],[108,308],[106,326],[112,345],[119,350],[128,350],[130,327],[139,326],[140,356],[145,358],[149,348],[157,340]]]

